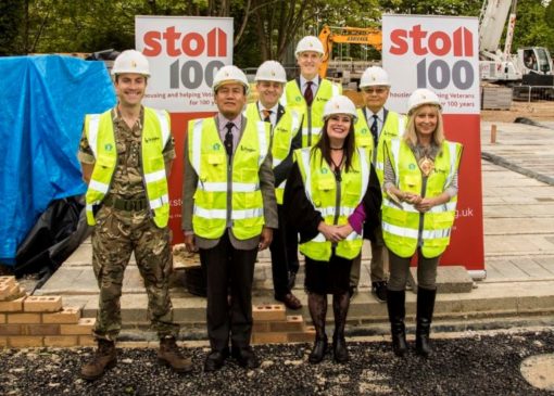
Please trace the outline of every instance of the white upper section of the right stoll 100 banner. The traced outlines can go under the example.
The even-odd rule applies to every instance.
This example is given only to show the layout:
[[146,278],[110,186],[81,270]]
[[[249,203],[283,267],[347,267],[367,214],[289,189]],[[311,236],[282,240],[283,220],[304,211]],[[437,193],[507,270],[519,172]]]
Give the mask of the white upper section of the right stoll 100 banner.
[[382,16],[382,64],[392,81],[387,106],[406,112],[417,88],[436,92],[444,114],[479,114],[476,17]]

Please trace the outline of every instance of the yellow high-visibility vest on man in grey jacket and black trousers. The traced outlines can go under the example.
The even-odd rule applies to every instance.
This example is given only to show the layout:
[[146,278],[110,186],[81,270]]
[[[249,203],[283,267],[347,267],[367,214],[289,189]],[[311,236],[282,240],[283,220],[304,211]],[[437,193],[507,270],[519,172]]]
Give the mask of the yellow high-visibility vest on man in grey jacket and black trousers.
[[244,122],[247,126],[231,165],[214,118],[189,122],[188,154],[198,175],[192,229],[199,237],[218,239],[223,235],[227,227],[229,193],[232,234],[245,240],[262,233],[265,218],[259,171],[269,151],[270,126],[247,118]]

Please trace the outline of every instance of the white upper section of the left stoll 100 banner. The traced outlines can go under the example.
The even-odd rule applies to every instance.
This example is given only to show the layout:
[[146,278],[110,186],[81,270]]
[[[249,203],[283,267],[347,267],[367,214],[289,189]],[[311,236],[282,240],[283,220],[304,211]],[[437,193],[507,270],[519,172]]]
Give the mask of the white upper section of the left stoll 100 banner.
[[232,64],[232,18],[136,16],[136,49],[150,61],[144,104],[169,113],[215,111],[212,81]]

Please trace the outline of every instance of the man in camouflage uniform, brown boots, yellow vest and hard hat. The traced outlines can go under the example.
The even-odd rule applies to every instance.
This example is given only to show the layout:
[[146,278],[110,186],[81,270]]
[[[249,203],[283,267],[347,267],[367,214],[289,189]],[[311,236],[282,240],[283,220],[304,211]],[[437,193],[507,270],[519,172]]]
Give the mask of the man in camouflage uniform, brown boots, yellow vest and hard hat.
[[166,112],[141,105],[149,64],[128,50],[112,69],[118,103],[85,118],[78,157],[88,183],[87,221],[92,232],[92,267],[100,288],[93,329],[98,350],[80,376],[96,380],[116,365],[122,284],[131,253],[144,281],[152,329],[160,337],[159,360],[188,372],[190,359],[176,345],[168,278],[173,269],[167,178],[175,158]]

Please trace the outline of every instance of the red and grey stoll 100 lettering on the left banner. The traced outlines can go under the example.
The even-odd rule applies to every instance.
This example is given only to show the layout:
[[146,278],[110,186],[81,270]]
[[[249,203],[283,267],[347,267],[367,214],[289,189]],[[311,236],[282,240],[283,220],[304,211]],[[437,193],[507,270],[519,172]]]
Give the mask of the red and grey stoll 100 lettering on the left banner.
[[[165,30],[149,30],[142,36],[146,56],[166,55],[176,60],[169,65],[169,88],[197,89],[203,84],[212,87],[215,73],[224,66],[227,56],[227,34],[214,27],[207,34],[177,31],[175,26]],[[212,58],[205,65],[194,58]]]

